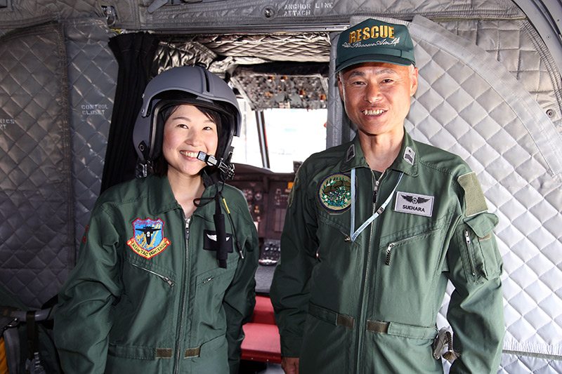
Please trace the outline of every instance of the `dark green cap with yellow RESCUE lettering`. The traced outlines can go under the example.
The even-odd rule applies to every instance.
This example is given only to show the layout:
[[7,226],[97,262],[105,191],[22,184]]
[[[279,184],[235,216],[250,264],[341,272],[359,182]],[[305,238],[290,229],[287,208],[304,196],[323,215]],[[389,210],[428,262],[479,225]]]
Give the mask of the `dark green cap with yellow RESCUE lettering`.
[[336,53],[336,72],[360,62],[416,65],[407,27],[372,18],[341,32]]

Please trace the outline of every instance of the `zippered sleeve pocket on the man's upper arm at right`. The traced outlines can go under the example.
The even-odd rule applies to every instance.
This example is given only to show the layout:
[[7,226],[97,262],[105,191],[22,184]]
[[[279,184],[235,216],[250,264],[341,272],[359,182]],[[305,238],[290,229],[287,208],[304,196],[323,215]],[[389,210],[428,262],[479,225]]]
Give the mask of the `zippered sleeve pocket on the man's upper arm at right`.
[[502,274],[503,261],[499,255],[492,230],[498,218],[492,213],[481,213],[459,225],[457,235],[462,236],[466,251],[462,251],[462,262],[466,279],[471,282],[492,279]]

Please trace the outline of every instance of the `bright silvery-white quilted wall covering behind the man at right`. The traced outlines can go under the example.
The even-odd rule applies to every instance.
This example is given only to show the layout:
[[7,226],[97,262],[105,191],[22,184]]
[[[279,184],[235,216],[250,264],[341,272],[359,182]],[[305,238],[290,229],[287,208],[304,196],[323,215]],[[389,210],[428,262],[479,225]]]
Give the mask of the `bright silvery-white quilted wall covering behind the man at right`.
[[[562,373],[559,76],[549,73],[549,61],[530,45],[520,21],[464,25],[472,30],[466,34],[458,25],[442,27],[421,17],[402,23],[414,39],[420,77],[407,131],[462,156],[478,173],[490,211],[499,216],[495,234],[504,260],[506,323],[499,372]],[[475,44],[476,34],[482,47]],[[496,47],[486,51],[492,42]],[[338,95],[336,86],[330,86],[330,95]],[[331,105],[332,121],[339,121],[341,102]],[[341,138],[351,136],[343,132]],[[448,325],[451,287],[440,326]]]

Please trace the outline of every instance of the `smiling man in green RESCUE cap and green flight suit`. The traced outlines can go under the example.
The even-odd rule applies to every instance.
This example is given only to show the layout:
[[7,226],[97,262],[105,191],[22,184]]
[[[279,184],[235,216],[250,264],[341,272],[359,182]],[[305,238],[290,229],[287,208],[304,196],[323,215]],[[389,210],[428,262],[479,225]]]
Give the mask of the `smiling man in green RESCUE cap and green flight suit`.
[[442,373],[432,345],[449,280],[451,373],[497,372],[497,217],[462,159],[405,132],[414,65],[403,25],[370,19],[339,37],[339,93],[358,132],[305,161],[289,196],[271,287],[287,374]]

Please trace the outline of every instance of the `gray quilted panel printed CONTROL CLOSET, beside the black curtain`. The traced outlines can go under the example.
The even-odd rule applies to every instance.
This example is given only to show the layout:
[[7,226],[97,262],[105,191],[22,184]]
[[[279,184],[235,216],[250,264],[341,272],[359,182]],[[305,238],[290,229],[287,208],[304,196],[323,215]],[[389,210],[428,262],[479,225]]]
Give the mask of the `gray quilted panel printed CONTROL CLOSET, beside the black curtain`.
[[102,19],[65,21],[76,248],[100,193],[119,69],[107,46],[114,35]]

